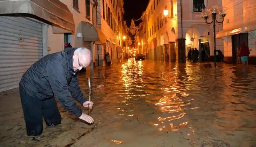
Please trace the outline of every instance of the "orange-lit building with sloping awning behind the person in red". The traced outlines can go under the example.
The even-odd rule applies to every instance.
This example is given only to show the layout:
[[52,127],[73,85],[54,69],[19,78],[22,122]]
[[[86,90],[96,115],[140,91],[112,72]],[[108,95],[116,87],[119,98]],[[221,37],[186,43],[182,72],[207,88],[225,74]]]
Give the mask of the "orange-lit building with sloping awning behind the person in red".
[[256,7],[254,0],[222,0],[228,12],[223,30],[217,33],[224,45],[224,61],[240,63],[238,48],[242,42],[250,49],[249,64],[256,64]]

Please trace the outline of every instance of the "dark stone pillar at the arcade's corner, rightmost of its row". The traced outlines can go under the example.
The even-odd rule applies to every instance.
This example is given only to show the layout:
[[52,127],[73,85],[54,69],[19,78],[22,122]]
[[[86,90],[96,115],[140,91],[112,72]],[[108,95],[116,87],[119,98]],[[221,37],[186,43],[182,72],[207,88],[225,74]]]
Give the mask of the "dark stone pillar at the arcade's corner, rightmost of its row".
[[176,60],[179,63],[186,63],[186,39],[177,39]]

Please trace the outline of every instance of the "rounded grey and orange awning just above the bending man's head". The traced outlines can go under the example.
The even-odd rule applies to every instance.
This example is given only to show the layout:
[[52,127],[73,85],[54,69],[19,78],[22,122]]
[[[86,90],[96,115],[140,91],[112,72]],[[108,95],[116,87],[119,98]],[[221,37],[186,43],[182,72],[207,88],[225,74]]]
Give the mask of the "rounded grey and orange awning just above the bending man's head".
[[95,44],[107,43],[107,38],[97,27],[92,26],[89,22],[82,21],[82,35],[84,41],[95,42]]

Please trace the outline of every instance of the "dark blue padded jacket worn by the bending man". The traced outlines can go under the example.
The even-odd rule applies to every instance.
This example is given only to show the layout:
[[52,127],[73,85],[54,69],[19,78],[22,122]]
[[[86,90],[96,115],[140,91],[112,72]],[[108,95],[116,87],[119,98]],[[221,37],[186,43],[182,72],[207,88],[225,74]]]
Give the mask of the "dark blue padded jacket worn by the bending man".
[[68,112],[80,117],[82,111],[74,99],[80,104],[86,99],[78,85],[77,72],[73,70],[74,51],[75,49],[69,49],[44,56],[24,73],[19,86],[28,95],[39,100],[55,95]]

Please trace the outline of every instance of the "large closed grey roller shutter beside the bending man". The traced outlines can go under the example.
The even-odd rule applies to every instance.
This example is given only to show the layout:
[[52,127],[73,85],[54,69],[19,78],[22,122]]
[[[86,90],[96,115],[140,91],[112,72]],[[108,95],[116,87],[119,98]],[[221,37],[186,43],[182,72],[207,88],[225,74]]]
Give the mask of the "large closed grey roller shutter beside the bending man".
[[23,73],[42,57],[42,24],[0,16],[0,92],[17,88]]

